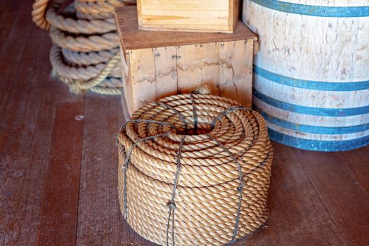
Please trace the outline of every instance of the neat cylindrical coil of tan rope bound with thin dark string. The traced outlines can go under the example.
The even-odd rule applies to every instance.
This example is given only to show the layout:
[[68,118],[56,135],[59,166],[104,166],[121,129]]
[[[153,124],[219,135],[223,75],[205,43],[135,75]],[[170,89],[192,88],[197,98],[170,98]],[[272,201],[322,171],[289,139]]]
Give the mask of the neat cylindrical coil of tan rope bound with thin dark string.
[[266,122],[231,99],[169,96],[117,135],[127,223],[160,245],[225,245],[268,219],[273,150]]

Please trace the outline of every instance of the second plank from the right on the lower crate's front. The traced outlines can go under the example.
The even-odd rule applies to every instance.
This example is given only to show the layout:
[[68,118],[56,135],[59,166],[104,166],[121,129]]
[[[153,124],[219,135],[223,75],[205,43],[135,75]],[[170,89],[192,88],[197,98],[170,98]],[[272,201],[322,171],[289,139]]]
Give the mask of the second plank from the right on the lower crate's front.
[[219,45],[217,43],[177,46],[178,91],[189,93],[207,84],[219,95]]

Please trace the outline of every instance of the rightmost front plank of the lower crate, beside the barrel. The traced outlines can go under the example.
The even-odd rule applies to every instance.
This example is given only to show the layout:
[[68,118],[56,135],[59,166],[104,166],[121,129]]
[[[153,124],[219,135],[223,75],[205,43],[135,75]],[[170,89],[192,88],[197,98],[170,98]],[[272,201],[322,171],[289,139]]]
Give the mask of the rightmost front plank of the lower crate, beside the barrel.
[[220,96],[242,105],[252,104],[252,53],[254,41],[223,42],[219,47]]

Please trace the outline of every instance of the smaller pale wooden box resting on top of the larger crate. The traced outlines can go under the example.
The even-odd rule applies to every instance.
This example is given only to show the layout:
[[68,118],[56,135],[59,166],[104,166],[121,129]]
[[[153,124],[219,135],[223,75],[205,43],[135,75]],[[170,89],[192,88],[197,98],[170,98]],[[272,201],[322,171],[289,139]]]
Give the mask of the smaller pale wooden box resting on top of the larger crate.
[[239,0],[137,0],[140,30],[233,33]]

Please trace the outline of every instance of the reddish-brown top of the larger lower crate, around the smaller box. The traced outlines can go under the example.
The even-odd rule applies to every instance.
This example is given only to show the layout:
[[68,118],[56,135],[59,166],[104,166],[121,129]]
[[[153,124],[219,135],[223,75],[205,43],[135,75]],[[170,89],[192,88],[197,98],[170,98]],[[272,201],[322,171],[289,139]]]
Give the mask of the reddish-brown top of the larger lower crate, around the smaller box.
[[115,19],[119,38],[124,50],[155,48],[165,46],[205,44],[215,41],[235,41],[242,39],[257,40],[240,20],[233,34],[205,32],[163,32],[138,30],[136,6],[121,6],[115,9]]

